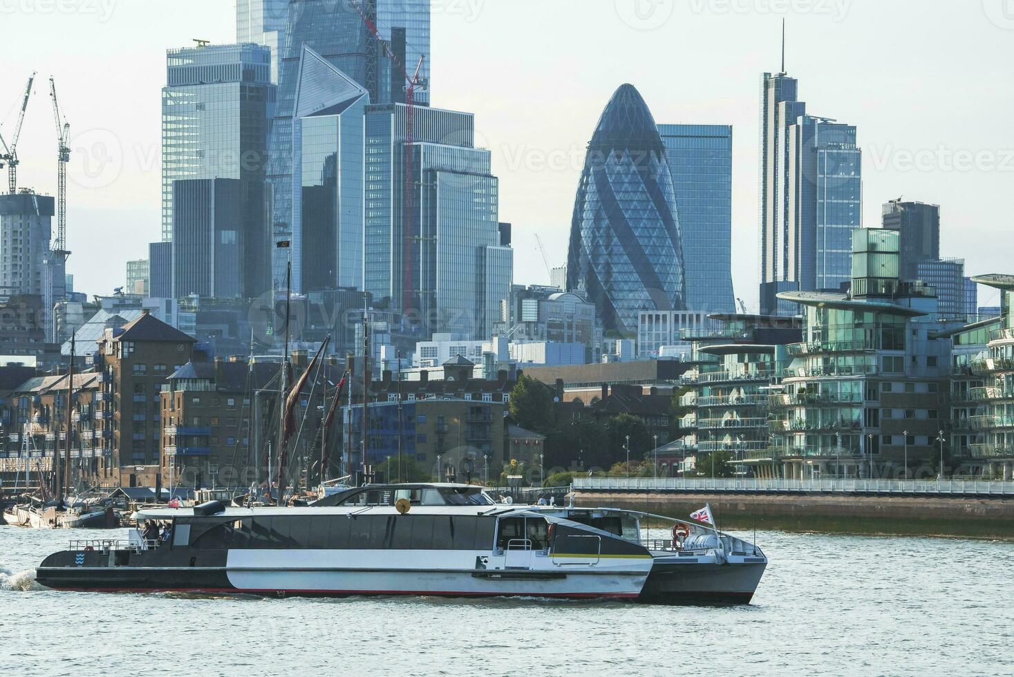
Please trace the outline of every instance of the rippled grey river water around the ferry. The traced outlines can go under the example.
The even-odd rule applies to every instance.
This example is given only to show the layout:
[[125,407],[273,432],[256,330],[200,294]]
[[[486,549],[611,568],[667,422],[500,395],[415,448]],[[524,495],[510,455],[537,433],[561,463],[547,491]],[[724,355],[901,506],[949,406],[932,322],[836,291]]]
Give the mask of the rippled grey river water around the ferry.
[[758,532],[772,563],[745,607],[34,584],[46,554],[95,535],[0,526],[4,674],[1014,674],[1011,542]]

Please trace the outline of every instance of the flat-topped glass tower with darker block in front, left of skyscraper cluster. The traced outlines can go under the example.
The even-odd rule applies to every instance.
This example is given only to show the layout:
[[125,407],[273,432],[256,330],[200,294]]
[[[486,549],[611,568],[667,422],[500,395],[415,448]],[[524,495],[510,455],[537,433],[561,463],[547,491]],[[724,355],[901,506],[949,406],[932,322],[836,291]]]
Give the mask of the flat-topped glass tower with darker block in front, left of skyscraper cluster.
[[257,45],[226,45],[170,50],[167,56],[167,85],[162,90],[162,239],[173,239],[174,181],[239,181],[236,238],[242,265],[237,284],[242,295],[256,297],[270,288],[265,171],[268,110],[275,96],[271,51]]

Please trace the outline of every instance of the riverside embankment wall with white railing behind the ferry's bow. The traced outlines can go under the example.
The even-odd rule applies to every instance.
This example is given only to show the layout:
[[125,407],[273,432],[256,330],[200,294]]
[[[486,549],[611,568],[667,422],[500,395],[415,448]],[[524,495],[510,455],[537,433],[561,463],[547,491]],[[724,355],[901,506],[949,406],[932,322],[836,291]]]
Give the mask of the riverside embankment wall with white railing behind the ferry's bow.
[[575,477],[572,491],[576,505],[683,518],[708,503],[732,529],[1014,539],[1009,481]]

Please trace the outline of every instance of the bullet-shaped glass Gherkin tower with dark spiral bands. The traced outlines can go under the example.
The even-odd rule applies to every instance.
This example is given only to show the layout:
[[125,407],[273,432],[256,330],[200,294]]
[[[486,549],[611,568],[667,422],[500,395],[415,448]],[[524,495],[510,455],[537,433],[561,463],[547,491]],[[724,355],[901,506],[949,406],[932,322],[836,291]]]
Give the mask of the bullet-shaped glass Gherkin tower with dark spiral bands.
[[641,94],[612,95],[588,145],[571,224],[567,286],[607,331],[637,333],[642,310],[683,310],[683,257],[665,146]]

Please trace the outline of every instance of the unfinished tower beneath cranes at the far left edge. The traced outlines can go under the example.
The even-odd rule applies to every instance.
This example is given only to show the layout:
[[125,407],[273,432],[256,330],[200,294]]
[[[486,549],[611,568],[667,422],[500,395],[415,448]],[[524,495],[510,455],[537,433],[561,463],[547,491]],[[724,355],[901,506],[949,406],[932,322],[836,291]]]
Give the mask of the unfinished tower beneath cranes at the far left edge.
[[50,196],[0,195],[0,297],[45,294],[54,209]]

